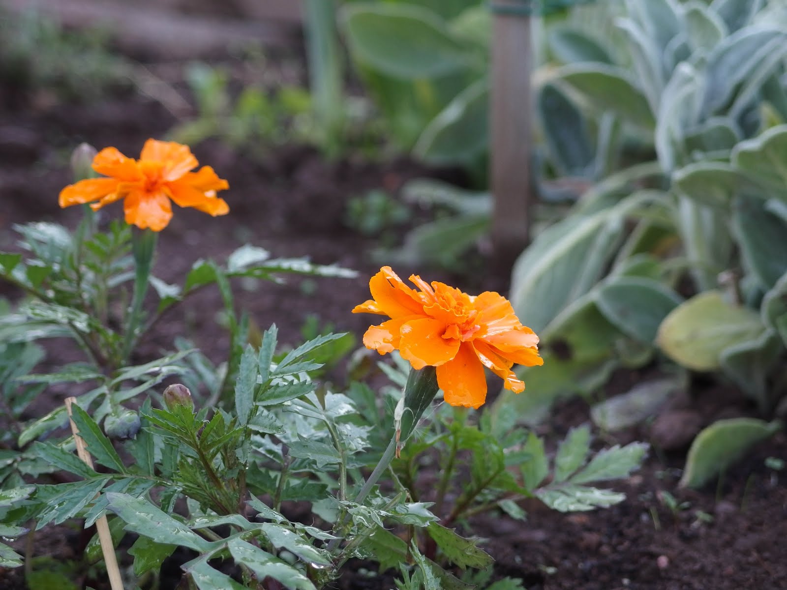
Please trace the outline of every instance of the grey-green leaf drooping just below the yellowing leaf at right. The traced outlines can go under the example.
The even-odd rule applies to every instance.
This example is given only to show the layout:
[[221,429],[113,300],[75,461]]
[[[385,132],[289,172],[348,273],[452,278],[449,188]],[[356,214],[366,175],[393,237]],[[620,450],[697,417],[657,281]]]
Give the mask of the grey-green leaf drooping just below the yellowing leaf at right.
[[758,338],[725,348],[719,357],[724,374],[755,400],[763,412],[771,409],[767,379],[784,346],[776,332],[766,330]]

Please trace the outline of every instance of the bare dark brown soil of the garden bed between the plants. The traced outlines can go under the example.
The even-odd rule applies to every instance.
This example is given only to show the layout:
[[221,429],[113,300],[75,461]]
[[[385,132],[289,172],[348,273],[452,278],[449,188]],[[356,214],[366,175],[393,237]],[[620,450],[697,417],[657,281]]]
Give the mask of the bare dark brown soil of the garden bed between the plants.
[[[148,137],[161,138],[174,120],[160,105],[136,96],[110,98],[101,104],[31,106],[17,96],[2,94],[0,85],[0,249],[13,247],[13,223],[50,220],[73,226],[79,212],[57,208],[57,193],[69,182],[69,150],[87,141],[113,145],[129,156],[139,153]],[[212,219],[193,210],[178,210],[161,233],[155,272],[164,280],[182,278],[200,257],[224,259],[249,242],[273,256],[311,256],[317,263],[341,264],[359,271],[356,279],[289,279],[283,286],[262,282],[239,289],[239,307],[249,310],[262,328],[277,323],[281,340],[295,343],[309,315],[334,330],[363,333],[368,317],[352,315],[353,305],[368,297],[368,276],[379,268],[371,252],[375,238],[349,230],[343,222],[349,198],[386,187],[393,194],[420,175],[450,178],[450,171],[425,170],[409,160],[374,163],[356,157],[328,162],[315,149],[286,146],[263,160],[250,160],[218,142],[194,148],[202,164],[210,164],[229,180],[231,213]],[[119,214],[110,207],[108,216]],[[416,212],[414,219],[422,219]],[[493,268],[493,264],[485,268]],[[401,275],[415,269],[397,267]],[[507,277],[487,270],[471,276],[418,269],[424,278],[449,280],[472,291],[505,289]],[[19,293],[0,287],[0,296]],[[212,360],[227,353],[228,342],[216,323],[220,298],[206,289],[179,311],[165,316],[146,341],[140,359],[169,348],[174,337],[190,337]],[[220,334],[220,335],[216,335]],[[49,347],[48,363],[73,360],[68,351]],[[624,375],[610,394],[620,393],[637,379]],[[685,396],[682,408],[703,422],[718,416],[749,415],[729,392],[712,386]],[[46,404],[61,403],[65,392],[54,390]],[[523,394],[527,395],[527,393]],[[587,422],[580,401],[563,404],[541,433],[553,440]],[[648,430],[606,437],[604,444],[647,440]],[[615,487],[628,500],[608,510],[558,514],[527,503],[527,522],[501,514],[476,518],[474,533],[487,539],[483,547],[497,564],[495,577],[520,577],[530,590],[777,590],[787,588],[787,471],[765,466],[765,459],[787,457],[787,437],[780,433],[760,445],[722,478],[700,492],[678,489],[685,448],[665,454],[651,452],[644,468]],[[671,511],[660,492],[667,491],[680,510]],[[79,531],[60,527],[42,542],[36,555],[75,559]],[[391,578],[367,577],[350,566],[336,588],[390,588]],[[0,570],[0,589],[24,588],[20,571]],[[94,587],[99,588],[93,581]],[[162,586],[161,590],[165,590]]]

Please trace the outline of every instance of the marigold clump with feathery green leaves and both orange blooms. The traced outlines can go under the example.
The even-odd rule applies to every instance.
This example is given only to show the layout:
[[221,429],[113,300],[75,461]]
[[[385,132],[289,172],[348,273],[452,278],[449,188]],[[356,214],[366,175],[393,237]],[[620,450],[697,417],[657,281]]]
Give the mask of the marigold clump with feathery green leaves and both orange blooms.
[[[377,301],[356,311],[393,319],[371,326],[365,343],[380,352],[390,352],[388,345],[401,348],[412,365],[400,365],[406,372],[383,365],[401,389],[379,396],[360,383],[337,393],[316,380],[322,360],[334,357],[321,348],[342,334],[320,334],[281,350],[271,326],[251,345],[248,322],[232,297],[234,277],[348,271],[269,260],[268,253],[246,246],[224,264],[198,261],[183,287],[154,278],[151,228],[163,229],[170,214],[162,194],[179,205],[227,212],[215,193],[226,183],[212,169],[188,172],[187,164],[196,165],[192,158],[186,146],[152,140],[140,162],[114,149],[102,151],[94,169],[109,178],[67,187],[61,203],[100,199],[100,207],[124,197],[127,222],[142,225],[143,232],[121,223],[100,231],[88,210],[74,233],[48,224],[20,228],[29,253],[2,255],[4,277],[28,293],[2,326],[9,334],[2,349],[2,399],[13,418],[48,385],[86,384],[86,393],[71,405],[73,437],[57,430],[65,419],[60,408],[32,424],[10,425],[18,436],[3,441],[10,449],[0,455],[0,532],[6,541],[26,534],[30,551],[35,542],[29,536],[49,525],[77,519],[89,527],[106,517],[116,547],[132,536],[119,559],[132,564],[120,582],[128,587],[156,587],[164,560],[185,548],[195,555],[181,566],[183,584],[201,590],[323,588],[356,557],[379,562],[381,570],[401,568],[410,586],[423,581],[465,588],[453,568],[485,569],[492,561],[478,540],[450,528],[466,525],[472,514],[503,510],[521,516],[516,501],[530,497],[560,511],[623,500],[622,494],[587,484],[625,477],[644,455],[643,445],[613,448],[588,463],[589,430],[582,428],[560,445],[550,470],[538,437],[486,416],[475,426],[466,411],[451,418],[443,404],[430,422],[434,428],[416,430],[432,414],[440,388],[449,404],[480,406],[485,363],[517,391],[524,385],[510,371],[512,363],[541,363],[538,337],[497,293],[470,297],[415,278],[421,289],[416,293],[395,282],[390,269],[375,275],[370,286]],[[160,172],[155,182],[146,176],[151,170]],[[134,174],[139,186],[129,187]],[[122,175],[124,183],[113,175]],[[157,190],[157,182],[169,183],[167,191]],[[183,341],[170,356],[131,363],[158,315],[213,283],[231,332],[227,363],[213,367]],[[157,291],[154,310],[145,299],[148,285]],[[420,309],[414,330],[404,329],[401,306]],[[406,319],[413,320],[412,313]],[[445,337],[435,342],[429,334],[437,328]],[[72,337],[85,362],[29,374],[42,348],[21,342],[54,335]],[[161,381],[176,376],[194,386],[194,395],[179,383],[159,393]],[[95,466],[74,455],[77,441]],[[431,448],[443,457],[448,474],[434,498],[424,497],[416,466],[416,457]],[[449,501],[449,489],[459,483],[456,467],[466,459],[471,481]],[[51,477],[62,471],[69,474],[65,482]],[[293,503],[311,503],[311,511],[293,511]],[[94,539],[88,551],[97,547]],[[102,548],[112,550],[104,542]],[[20,566],[31,559],[19,551],[19,541],[14,548],[0,544],[0,564]]]

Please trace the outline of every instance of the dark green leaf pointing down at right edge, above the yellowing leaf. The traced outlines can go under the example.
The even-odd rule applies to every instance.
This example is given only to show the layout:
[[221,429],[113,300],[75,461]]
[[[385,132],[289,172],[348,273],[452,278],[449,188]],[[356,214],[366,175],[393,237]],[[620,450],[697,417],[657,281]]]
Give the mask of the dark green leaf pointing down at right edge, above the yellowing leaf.
[[[785,152],[787,153],[787,152]],[[764,289],[770,289],[787,272],[787,223],[752,197],[735,201],[732,229],[745,267]]]

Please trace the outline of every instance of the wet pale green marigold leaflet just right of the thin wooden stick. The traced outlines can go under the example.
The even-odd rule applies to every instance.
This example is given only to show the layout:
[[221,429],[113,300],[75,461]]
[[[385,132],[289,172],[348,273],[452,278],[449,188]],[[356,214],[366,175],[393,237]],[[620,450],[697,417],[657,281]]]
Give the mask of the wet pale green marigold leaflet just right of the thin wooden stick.
[[212,547],[209,541],[144,498],[132,498],[116,492],[107,492],[106,496],[109,510],[126,522],[126,530],[157,543],[183,545],[194,551],[205,552]]

